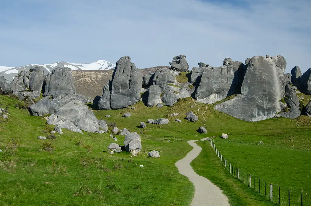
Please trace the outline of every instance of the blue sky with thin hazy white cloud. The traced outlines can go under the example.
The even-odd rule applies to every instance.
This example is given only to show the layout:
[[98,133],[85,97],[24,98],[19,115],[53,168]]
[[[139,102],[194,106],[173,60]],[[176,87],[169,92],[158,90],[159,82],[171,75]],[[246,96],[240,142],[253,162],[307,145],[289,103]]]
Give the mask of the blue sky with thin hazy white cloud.
[[221,66],[282,55],[311,68],[310,0],[0,0],[0,65],[59,61]]

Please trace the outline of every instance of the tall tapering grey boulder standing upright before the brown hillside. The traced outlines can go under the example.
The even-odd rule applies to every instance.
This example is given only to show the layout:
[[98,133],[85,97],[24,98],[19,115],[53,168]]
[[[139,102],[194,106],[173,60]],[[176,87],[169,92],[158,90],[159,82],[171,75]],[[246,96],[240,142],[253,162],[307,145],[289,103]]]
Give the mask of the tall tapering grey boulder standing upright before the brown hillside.
[[110,106],[111,109],[120,109],[133,105],[140,100],[142,88],[142,74],[131,63],[131,58],[120,58],[112,75]]

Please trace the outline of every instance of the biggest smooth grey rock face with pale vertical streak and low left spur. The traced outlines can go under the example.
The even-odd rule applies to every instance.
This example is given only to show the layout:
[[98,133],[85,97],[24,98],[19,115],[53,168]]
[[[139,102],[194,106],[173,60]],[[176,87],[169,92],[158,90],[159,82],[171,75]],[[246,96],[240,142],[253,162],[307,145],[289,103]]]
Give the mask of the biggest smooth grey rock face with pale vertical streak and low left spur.
[[252,57],[247,65],[241,94],[216,105],[218,111],[245,121],[273,118],[281,111],[286,61],[278,55]]

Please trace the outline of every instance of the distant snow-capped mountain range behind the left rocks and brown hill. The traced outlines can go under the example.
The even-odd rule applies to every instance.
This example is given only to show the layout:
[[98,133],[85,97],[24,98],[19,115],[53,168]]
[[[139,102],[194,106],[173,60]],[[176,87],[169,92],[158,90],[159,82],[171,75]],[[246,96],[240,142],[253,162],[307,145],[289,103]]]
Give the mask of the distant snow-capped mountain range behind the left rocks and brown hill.
[[21,67],[3,67],[0,66],[0,76],[4,76],[8,81],[12,81],[14,77],[23,70],[29,71],[33,66],[38,65],[44,68],[44,74],[48,74],[54,68],[68,67],[71,70],[108,70],[113,69],[116,65],[105,60],[98,60],[92,63],[70,63],[55,62],[53,64],[29,64]]

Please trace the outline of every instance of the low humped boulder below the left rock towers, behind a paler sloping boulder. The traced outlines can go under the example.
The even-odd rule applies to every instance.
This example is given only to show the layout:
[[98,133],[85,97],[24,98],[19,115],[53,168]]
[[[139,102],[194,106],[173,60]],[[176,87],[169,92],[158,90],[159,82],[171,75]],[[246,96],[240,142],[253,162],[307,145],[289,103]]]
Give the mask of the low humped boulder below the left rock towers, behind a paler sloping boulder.
[[56,92],[51,96],[45,96],[34,105],[30,105],[29,112],[33,116],[55,114],[61,107],[69,102],[72,102],[73,104],[84,104],[84,102],[79,101],[78,97],[73,93],[64,94]]

